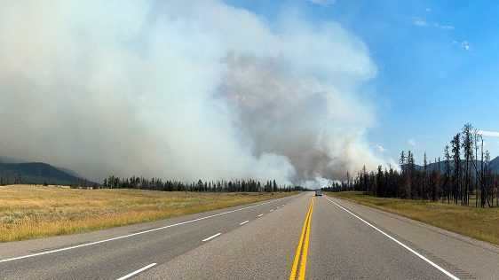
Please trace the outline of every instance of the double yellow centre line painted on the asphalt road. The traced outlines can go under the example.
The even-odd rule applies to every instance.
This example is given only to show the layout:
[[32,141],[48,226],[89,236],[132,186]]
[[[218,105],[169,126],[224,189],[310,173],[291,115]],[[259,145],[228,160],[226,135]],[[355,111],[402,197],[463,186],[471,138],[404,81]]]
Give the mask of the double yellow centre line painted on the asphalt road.
[[[291,268],[291,275],[289,280],[302,280],[305,279],[306,274],[306,258],[308,256],[308,245],[310,243],[310,222],[312,222],[313,213],[313,198],[310,199],[308,212],[306,213],[305,222],[298,242],[297,252],[295,253],[295,260]],[[298,270],[299,266],[299,270]]]

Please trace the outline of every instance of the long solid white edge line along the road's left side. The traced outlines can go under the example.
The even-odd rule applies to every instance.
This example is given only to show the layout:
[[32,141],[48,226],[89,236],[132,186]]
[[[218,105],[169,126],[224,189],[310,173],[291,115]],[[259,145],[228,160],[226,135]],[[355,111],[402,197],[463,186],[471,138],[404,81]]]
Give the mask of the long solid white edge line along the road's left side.
[[257,206],[267,205],[269,203],[273,203],[275,201],[279,201],[279,200],[282,200],[282,199],[286,199],[286,198],[278,198],[278,199],[274,199],[272,201],[267,201],[267,202],[264,202],[264,203],[260,203],[260,204],[255,205],[255,206],[242,207],[242,208],[231,210],[231,211],[227,211],[227,212],[224,212],[224,213],[212,214],[212,215],[209,215],[209,216],[206,216],[206,217],[202,217],[202,218],[198,218],[198,219],[194,219],[194,220],[190,220],[190,221],[186,221],[186,222],[178,222],[178,223],[170,224],[168,226],[164,226],[164,227],[160,227],[160,228],[148,229],[148,230],[144,230],[144,231],[140,231],[140,232],[136,232],[136,233],[127,234],[127,235],[124,235],[124,236],[121,236],[121,237],[113,237],[113,238],[103,239],[103,240],[94,241],[94,242],[90,242],[90,243],[84,243],[84,244],[81,244],[81,245],[74,245],[74,246],[69,246],[69,247],[55,249],[55,250],[50,250],[50,251],[45,251],[45,252],[40,252],[40,253],[33,253],[33,254],[28,254],[28,255],[24,255],[24,256],[20,256],[20,257],[14,257],[14,258],[10,258],[10,259],[4,259],[4,260],[0,260],[0,263],[7,262],[7,261],[17,261],[17,260],[21,260],[21,259],[32,258],[32,257],[36,257],[36,256],[41,256],[41,255],[44,255],[44,254],[49,254],[49,253],[59,253],[59,252],[63,252],[63,251],[67,251],[67,250],[72,250],[72,249],[76,249],[76,248],[81,248],[81,247],[86,247],[86,246],[91,246],[91,245],[98,245],[98,244],[101,244],[101,243],[105,243],[105,242],[109,242],[109,241],[114,241],[114,240],[119,240],[119,239],[123,239],[123,238],[135,237],[135,236],[139,236],[141,234],[145,234],[145,233],[149,233],[149,232],[153,232],[153,231],[157,231],[157,230],[169,229],[169,228],[177,227],[177,226],[184,225],[184,224],[187,224],[187,223],[199,222],[199,221],[202,221],[202,220],[206,220],[206,219],[210,219],[210,218],[214,218],[214,217],[218,217],[218,216],[222,216],[222,215],[232,214],[234,212],[239,212],[239,211],[242,211],[242,210],[247,210],[247,209],[250,209],[250,208],[255,208]]

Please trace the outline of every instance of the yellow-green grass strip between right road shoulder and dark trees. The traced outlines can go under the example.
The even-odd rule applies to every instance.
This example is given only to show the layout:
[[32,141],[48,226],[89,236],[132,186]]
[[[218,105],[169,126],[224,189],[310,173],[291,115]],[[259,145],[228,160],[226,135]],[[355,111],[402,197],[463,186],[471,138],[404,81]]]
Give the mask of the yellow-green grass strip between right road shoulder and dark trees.
[[455,206],[432,201],[375,198],[354,191],[327,194],[499,245],[499,207],[475,208],[474,205]]

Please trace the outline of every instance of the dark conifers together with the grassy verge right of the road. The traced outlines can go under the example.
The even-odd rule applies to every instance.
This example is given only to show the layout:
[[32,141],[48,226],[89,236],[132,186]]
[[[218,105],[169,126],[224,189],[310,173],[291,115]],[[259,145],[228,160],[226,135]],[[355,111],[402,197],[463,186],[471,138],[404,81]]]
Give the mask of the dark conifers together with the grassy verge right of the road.
[[443,149],[443,159],[416,165],[400,152],[400,167],[347,173],[323,191],[499,245],[499,157],[484,150],[482,132],[467,123]]

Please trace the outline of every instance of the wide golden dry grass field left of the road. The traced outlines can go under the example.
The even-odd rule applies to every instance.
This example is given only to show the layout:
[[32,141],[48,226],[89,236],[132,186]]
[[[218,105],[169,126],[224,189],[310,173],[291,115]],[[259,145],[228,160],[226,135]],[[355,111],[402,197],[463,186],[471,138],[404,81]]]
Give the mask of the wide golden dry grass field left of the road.
[[0,187],[0,242],[150,222],[290,193],[193,193]]

